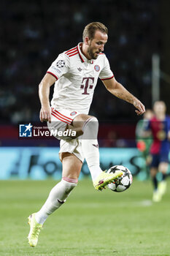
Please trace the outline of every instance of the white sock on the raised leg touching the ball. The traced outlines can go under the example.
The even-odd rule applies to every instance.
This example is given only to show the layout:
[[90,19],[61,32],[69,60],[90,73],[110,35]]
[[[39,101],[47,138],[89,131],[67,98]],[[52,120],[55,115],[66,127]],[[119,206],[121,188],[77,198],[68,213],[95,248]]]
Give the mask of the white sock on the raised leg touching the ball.
[[102,172],[99,160],[98,150],[98,119],[90,117],[82,127],[82,153],[88,164],[92,180]]

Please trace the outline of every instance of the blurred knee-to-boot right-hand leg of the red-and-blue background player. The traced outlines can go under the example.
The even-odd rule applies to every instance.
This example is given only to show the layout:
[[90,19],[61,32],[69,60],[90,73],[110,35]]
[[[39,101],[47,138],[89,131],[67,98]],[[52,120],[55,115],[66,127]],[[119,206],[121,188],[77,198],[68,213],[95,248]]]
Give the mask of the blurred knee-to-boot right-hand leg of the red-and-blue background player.
[[160,162],[160,164],[158,165],[158,171],[162,173],[162,180],[158,184],[158,190],[161,195],[164,195],[166,192],[166,173],[168,171],[168,167],[168,162]]

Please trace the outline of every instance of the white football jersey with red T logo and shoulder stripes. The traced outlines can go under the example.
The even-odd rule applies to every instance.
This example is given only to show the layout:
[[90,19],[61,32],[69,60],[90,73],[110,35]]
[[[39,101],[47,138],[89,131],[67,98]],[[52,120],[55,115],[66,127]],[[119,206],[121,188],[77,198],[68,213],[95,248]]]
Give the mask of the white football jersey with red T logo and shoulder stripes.
[[52,107],[88,114],[98,77],[107,80],[114,75],[104,53],[97,59],[88,60],[80,50],[81,45],[59,54],[47,73],[57,79]]

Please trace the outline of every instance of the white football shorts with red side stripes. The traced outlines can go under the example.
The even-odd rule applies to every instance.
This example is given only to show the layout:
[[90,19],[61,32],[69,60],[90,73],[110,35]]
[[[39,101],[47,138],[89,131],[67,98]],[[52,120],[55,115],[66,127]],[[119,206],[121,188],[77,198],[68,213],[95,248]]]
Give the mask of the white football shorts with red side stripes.
[[60,151],[59,157],[62,162],[62,153],[69,152],[74,154],[80,161],[84,161],[84,156],[82,154],[82,143],[80,138],[69,138],[66,135],[59,136],[56,131],[65,132],[66,125],[72,124],[72,121],[76,116],[80,115],[80,112],[70,111],[66,109],[55,109],[51,108],[51,123],[47,122],[47,127],[50,132],[53,130],[53,136],[60,141]]

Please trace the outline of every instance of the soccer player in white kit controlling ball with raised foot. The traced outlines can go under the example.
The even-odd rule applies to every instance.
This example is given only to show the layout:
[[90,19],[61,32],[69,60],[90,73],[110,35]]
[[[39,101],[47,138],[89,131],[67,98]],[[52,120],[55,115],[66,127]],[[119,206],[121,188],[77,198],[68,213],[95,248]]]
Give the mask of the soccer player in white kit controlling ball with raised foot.
[[[142,115],[145,108],[139,99],[115,80],[109,61],[102,53],[107,34],[104,24],[89,23],[83,31],[83,42],[59,54],[39,84],[39,99],[42,104],[40,120],[47,121],[49,129],[73,129],[77,136],[61,138],[59,157],[63,167],[62,179],[53,187],[42,208],[28,217],[30,246],[36,246],[47,217],[62,206],[72,189],[77,186],[84,158],[95,189],[104,189],[123,174],[105,173],[100,167],[98,120],[88,115],[98,77],[111,94],[133,104],[137,115]],[[50,106],[50,86],[53,83],[55,88]]]

